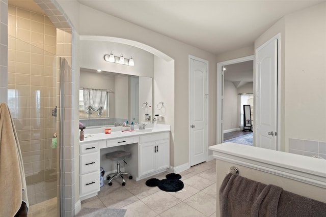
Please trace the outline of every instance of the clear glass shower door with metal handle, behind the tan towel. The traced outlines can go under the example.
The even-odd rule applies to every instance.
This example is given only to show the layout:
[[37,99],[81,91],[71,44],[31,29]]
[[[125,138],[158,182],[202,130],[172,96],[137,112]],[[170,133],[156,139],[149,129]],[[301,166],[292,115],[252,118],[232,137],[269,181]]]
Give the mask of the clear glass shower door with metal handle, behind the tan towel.
[[22,152],[29,216],[59,216],[58,58],[8,36],[8,106]]

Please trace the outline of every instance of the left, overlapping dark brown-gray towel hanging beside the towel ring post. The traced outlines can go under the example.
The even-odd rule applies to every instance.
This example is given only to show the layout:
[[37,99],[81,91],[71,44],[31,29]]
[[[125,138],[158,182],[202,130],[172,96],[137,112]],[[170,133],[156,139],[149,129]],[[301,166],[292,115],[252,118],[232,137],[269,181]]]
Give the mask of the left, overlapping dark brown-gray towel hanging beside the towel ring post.
[[277,216],[282,188],[237,174],[224,178],[219,198],[221,216]]

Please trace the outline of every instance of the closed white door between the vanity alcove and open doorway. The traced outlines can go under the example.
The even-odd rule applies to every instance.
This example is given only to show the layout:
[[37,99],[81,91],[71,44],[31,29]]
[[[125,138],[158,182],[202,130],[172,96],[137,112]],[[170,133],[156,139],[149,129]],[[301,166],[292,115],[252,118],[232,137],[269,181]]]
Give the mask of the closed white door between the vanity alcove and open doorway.
[[189,82],[189,149],[190,166],[207,161],[207,73],[208,62],[190,58]]

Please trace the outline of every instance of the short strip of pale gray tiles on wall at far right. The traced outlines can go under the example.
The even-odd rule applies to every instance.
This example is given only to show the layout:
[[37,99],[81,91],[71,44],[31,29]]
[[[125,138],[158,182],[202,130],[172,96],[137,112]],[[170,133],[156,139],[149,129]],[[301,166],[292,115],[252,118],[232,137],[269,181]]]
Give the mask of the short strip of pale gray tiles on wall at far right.
[[289,152],[304,156],[319,156],[326,159],[326,142],[290,139]]

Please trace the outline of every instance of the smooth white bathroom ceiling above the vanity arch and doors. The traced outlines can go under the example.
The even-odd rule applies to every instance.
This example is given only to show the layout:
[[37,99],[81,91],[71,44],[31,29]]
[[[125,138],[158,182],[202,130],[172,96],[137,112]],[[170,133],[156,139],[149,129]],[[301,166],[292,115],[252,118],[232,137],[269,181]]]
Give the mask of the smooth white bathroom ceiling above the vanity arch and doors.
[[284,15],[326,0],[77,1],[186,44],[220,54],[253,45],[255,39]]

